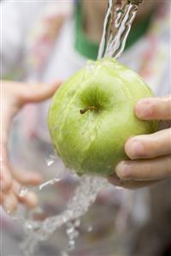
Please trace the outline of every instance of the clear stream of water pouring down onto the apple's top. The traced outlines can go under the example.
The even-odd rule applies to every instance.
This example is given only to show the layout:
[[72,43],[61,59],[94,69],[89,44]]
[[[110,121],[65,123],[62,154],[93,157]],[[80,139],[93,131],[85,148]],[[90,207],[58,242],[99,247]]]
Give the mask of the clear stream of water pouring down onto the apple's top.
[[140,3],[143,0],[109,0],[98,58],[121,56]]

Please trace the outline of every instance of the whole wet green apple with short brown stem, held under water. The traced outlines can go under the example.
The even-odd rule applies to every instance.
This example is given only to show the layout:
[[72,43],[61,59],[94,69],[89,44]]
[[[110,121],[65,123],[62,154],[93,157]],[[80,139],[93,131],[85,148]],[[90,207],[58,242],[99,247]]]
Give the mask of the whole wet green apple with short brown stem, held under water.
[[50,136],[63,163],[79,175],[114,173],[127,159],[127,138],[156,131],[157,122],[133,113],[139,98],[152,95],[138,74],[115,59],[89,61],[63,83],[50,105]]

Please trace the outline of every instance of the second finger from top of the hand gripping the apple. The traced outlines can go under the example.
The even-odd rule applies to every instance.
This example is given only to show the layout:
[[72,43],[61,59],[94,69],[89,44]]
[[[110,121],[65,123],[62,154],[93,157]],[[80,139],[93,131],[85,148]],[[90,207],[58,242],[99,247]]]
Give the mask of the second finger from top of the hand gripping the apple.
[[156,158],[171,154],[171,129],[130,138],[126,142],[125,152],[131,159]]

